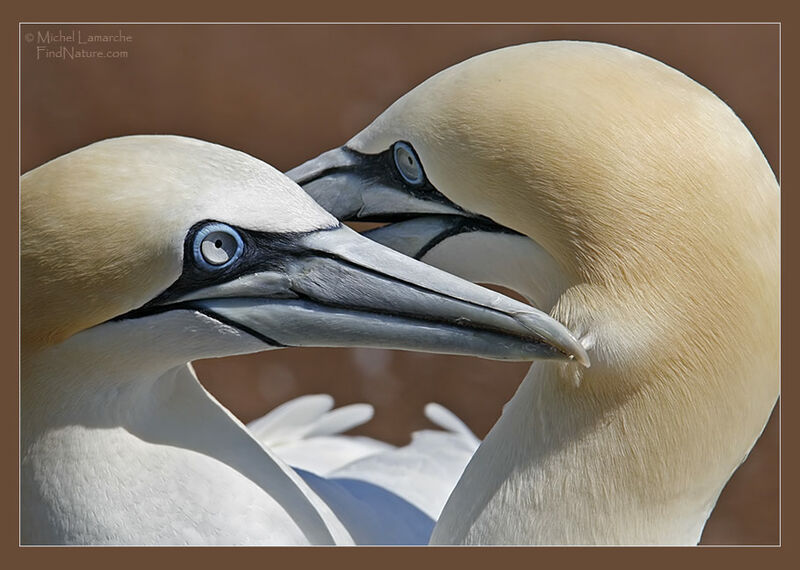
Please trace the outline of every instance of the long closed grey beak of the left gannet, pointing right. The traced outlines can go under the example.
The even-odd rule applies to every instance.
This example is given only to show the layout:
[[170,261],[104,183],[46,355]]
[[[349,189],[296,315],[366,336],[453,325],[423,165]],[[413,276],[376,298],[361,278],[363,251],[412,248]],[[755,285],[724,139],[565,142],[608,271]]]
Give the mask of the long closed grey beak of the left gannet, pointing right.
[[245,261],[239,269],[209,282],[184,260],[178,281],[121,318],[194,310],[276,347],[382,347],[588,365],[581,344],[547,314],[347,227],[238,231]]

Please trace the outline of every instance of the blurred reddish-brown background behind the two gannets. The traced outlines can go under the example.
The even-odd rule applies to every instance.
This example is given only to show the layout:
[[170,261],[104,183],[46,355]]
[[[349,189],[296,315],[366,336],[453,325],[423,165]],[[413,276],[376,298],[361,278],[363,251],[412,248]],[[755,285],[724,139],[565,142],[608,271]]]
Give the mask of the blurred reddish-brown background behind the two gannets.
[[[51,31],[72,42],[47,45]],[[63,59],[60,45],[121,32],[125,51]],[[103,138],[181,134],[286,170],[344,143],[445,67],[498,47],[603,41],[676,67],[725,100],[778,171],[776,25],[26,25],[22,27],[22,171]],[[50,57],[48,57],[48,50]],[[302,394],[366,401],[356,433],[402,444],[431,427],[440,402],[484,436],[528,366],[382,350],[287,349],[196,363],[205,386],[243,421]],[[773,413],[720,498],[707,544],[775,544],[778,425]]]

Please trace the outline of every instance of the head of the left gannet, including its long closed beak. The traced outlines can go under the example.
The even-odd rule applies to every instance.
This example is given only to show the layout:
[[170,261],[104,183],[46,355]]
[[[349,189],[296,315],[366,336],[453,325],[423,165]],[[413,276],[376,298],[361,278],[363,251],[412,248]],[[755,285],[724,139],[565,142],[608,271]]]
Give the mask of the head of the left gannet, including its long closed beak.
[[106,140],[21,185],[24,356],[82,335],[175,363],[301,345],[585,356],[547,315],[362,238],[218,145]]

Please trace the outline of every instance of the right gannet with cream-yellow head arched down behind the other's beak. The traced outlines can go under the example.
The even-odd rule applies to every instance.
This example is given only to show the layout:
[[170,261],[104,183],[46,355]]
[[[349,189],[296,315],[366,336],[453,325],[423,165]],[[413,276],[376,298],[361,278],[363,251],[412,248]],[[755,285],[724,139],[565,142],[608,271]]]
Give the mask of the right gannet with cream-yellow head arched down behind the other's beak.
[[779,394],[779,188],[742,122],[616,46],[489,52],[288,173],[368,235],[516,289],[592,365],[534,364],[432,536],[696,544]]

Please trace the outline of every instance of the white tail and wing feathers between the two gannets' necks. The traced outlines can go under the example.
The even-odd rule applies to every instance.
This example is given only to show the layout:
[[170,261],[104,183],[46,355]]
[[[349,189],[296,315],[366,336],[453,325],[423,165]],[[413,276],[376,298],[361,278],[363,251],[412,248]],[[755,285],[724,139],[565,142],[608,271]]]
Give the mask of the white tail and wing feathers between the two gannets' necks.
[[327,503],[356,544],[427,544],[480,440],[435,403],[425,415],[446,431],[414,432],[400,448],[342,435],[372,419],[372,406],[332,408],[327,394],[302,396],[248,428]]

